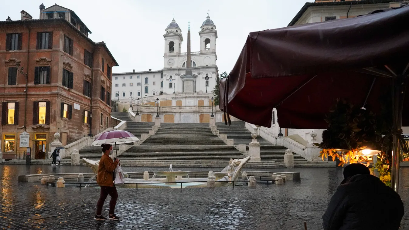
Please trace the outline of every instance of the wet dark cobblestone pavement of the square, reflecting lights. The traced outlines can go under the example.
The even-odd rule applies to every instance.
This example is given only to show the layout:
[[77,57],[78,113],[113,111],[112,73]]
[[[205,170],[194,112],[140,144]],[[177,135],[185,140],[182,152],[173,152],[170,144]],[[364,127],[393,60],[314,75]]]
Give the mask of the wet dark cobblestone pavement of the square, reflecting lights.
[[[151,170],[132,168],[132,171],[145,169]],[[295,168],[294,171],[301,172],[301,181],[268,187],[118,189],[116,214],[122,219],[115,222],[93,220],[98,188],[57,189],[40,183],[17,182],[18,174],[90,172],[86,167],[61,166],[52,170],[40,165],[0,165],[0,229],[303,230],[303,221],[307,221],[308,230],[322,229],[321,215],[342,180],[342,170]],[[409,168],[402,168],[400,195],[406,212],[408,182]],[[108,214],[108,202],[109,197],[104,205],[105,215]],[[43,212],[58,216],[28,218]],[[409,229],[408,214],[401,228]]]

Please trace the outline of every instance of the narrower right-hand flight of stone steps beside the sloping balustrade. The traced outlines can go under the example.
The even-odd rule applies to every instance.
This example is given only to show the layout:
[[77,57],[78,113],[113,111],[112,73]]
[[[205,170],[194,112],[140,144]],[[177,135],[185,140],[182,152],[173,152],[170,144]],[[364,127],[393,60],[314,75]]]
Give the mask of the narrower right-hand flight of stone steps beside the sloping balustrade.
[[[231,125],[225,125],[224,122],[216,122],[217,130],[220,134],[227,134],[227,139],[234,139],[234,145],[245,144],[247,151],[249,143],[253,138],[251,132],[246,129],[244,121],[232,121]],[[261,136],[257,136],[260,143],[260,158],[262,161],[284,161],[284,154],[287,147],[273,145]],[[294,161],[306,161],[302,156],[294,154]]]

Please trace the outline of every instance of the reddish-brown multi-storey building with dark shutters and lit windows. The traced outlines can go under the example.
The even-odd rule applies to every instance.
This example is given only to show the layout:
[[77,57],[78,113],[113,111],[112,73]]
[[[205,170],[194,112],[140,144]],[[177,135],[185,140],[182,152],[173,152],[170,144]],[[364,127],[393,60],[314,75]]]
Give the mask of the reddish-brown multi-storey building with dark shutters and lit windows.
[[21,11],[21,20],[0,21],[3,159],[23,158],[24,131],[31,158],[43,159],[56,132],[66,145],[110,127],[111,68],[118,64],[88,33],[74,11],[56,4],[41,4],[40,19]]

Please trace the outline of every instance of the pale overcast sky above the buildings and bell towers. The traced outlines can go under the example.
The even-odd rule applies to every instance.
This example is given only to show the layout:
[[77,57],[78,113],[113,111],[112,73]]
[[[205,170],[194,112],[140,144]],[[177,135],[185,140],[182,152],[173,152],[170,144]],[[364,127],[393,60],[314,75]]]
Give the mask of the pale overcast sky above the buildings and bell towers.
[[173,14],[182,29],[182,52],[187,50],[188,21],[191,51],[200,51],[200,26],[207,12],[216,25],[219,73],[231,71],[252,31],[285,27],[305,2],[312,0],[18,0],[2,1],[0,20],[20,20],[25,10],[39,18],[39,5],[58,4],[73,10],[92,31],[94,42],[104,41],[119,67],[114,73],[160,70],[164,66],[164,33]]

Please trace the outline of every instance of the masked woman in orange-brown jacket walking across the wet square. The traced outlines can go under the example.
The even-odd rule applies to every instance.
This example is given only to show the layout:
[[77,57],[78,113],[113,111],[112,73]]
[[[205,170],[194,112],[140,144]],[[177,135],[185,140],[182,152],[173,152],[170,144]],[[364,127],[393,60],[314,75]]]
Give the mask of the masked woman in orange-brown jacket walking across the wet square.
[[110,155],[112,155],[113,153],[111,144],[102,144],[101,146],[103,155],[101,156],[101,160],[99,161],[97,174],[97,183],[101,187],[101,194],[97,203],[97,214],[95,215],[94,219],[106,220],[106,217],[103,217],[101,212],[103,203],[105,202],[105,199],[109,194],[111,196],[111,200],[109,202],[108,219],[119,220],[120,217],[115,215],[115,205],[117,204],[118,193],[117,188],[115,187],[115,184],[113,182],[113,172],[117,165],[119,165],[119,159],[116,159],[115,162],[113,162],[110,158]]

